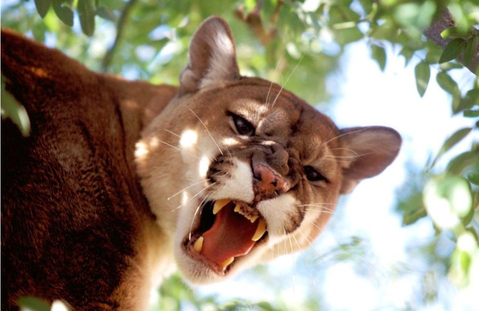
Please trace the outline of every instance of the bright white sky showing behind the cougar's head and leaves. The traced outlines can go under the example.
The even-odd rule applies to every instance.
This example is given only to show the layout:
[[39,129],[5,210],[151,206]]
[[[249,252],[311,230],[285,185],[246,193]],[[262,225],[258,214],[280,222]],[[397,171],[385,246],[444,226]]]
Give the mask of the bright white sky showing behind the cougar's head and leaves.
[[[424,167],[446,137],[459,128],[472,126],[473,120],[451,117],[450,98],[437,85],[435,69],[421,98],[414,79],[414,65],[419,59],[413,59],[405,68],[404,58],[396,55],[397,51],[388,50],[386,70],[381,72],[369,58],[364,41],[351,44],[342,61],[342,73],[328,82],[330,89],[339,94],[331,115],[339,126],[390,126],[403,137],[396,161],[381,175],[363,181],[351,195],[341,199],[343,204],[338,213],[343,217],[340,222],[330,224],[314,246],[322,254],[338,243],[347,242],[349,237],[358,236],[366,241],[364,262],[326,263],[321,267],[321,262],[311,265],[302,255],[285,256],[268,265],[273,276],[283,280],[282,286],[265,288],[251,282],[252,274],[246,273],[226,284],[198,288],[200,293],[216,294],[225,301],[244,298],[272,302],[275,294],[271,288],[280,288],[288,310],[294,310],[294,302],[304,299],[308,291],[322,296],[326,310],[398,310],[408,306],[414,310],[473,309],[472,293],[479,293],[479,289],[457,292],[447,282],[438,284],[439,303],[423,305],[422,277],[429,267],[421,258],[412,257],[408,246],[426,244],[434,231],[428,219],[402,227],[401,217],[394,212],[395,191],[405,182],[406,163]],[[455,77],[463,84],[473,82],[473,75],[464,71]],[[438,167],[444,167],[452,155],[468,150],[472,139],[479,139],[477,131],[452,149]],[[447,243],[446,246],[450,247]],[[314,255],[315,251],[309,251],[305,257]],[[409,273],[395,274],[396,270]]]

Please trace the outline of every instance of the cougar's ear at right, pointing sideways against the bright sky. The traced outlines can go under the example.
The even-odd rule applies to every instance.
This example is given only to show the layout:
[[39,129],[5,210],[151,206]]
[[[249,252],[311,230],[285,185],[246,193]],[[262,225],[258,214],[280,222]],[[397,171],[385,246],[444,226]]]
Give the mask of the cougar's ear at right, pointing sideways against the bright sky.
[[401,136],[390,127],[352,127],[341,132],[344,148],[354,156],[353,161],[343,166],[341,193],[349,193],[362,179],[381,173],[401,148]]

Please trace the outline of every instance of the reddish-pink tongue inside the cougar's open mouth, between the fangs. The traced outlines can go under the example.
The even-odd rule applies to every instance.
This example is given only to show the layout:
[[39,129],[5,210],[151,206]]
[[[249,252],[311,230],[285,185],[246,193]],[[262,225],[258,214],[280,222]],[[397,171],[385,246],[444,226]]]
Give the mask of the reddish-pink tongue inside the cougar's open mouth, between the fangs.
[[255,243],[251,238],[258,220],[251,224],[233,208],[233,204],[228,204],[221,209],[213,227],[203,234],[201,254],[218,265],[231,257],[246,255]]

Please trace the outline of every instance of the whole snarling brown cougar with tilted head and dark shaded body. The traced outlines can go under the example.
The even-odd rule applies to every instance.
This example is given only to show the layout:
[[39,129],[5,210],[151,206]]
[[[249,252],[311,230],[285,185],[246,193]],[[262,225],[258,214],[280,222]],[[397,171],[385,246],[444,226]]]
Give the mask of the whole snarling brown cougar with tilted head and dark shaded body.
[[28,137],[1,121],[2,310],[21,296],[146,310],[175,267],[220,282],[306,248],[401,145],[241,76],[219,17],[195,32],[179,87],[89,71],[10,30],[1,72],[31,120]]

